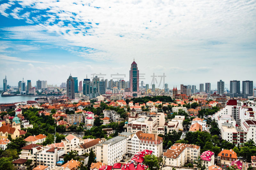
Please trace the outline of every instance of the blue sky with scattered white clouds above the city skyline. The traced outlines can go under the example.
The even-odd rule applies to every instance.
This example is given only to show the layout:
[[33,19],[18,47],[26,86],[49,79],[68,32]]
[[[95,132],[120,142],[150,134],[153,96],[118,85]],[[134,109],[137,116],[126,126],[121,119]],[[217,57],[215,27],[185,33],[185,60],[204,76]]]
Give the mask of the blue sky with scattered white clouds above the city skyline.
[[256,82],[255,9],[255,0],[0,0],[0,79],[127,81],[135,60],[156,88]]

